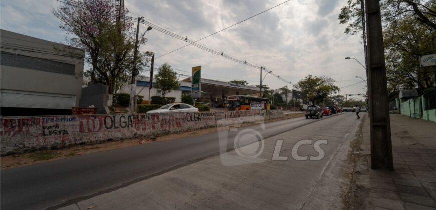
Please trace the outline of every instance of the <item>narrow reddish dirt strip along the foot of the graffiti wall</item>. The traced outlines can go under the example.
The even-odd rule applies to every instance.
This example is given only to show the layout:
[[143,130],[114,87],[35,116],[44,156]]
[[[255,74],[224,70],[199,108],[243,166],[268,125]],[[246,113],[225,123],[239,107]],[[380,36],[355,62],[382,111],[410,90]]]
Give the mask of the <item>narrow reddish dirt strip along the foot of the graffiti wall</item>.
[[[279,121],[284,119],[291,119],[297,117],[303,117],[304,113],[294,113],[287,114],[282,118],[268,120],[267,122]],[[242,126],[249,126],[254,123],[244,123]],[[68,158],[71,156],[89,154],[98,151],[106,151],[117,148],[124,148],[130,146],[137,146],[145,143],[153,143],[155,141],[167,141],[173,140],[176,138],[182,138],[186,136],[194,136],[201,135],[205,133],[210,133],[216,131],[216,127],[188,131],[181,134],[169,134],[165,136],[160,136],[155,139],[150,138],[131,138],[131,139],[123,139],[118,141],[108,141],[100,144],[92,144],[92,145],[77,145],[71,146],[67,148],[57,149],[57,150],[44,150],[44,151],[36,151],[32,153],[24,153],[24,154],[13,154],[8,156],[0,157],[0,168],[11,168],[11,167],[19,167],[29,164],[36,164],[47,161],[55,161],[58,159]]]

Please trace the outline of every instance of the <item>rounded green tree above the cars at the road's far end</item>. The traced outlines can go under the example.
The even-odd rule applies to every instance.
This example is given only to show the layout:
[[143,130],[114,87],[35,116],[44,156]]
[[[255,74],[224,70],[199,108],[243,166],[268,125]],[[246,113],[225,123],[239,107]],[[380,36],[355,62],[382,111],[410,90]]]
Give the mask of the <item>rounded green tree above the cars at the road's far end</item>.
[[306,99],[315,105],[339,89],[333,82],[334,80],[329,77],[308,75],[295,84],[294,88],[306,95]]

